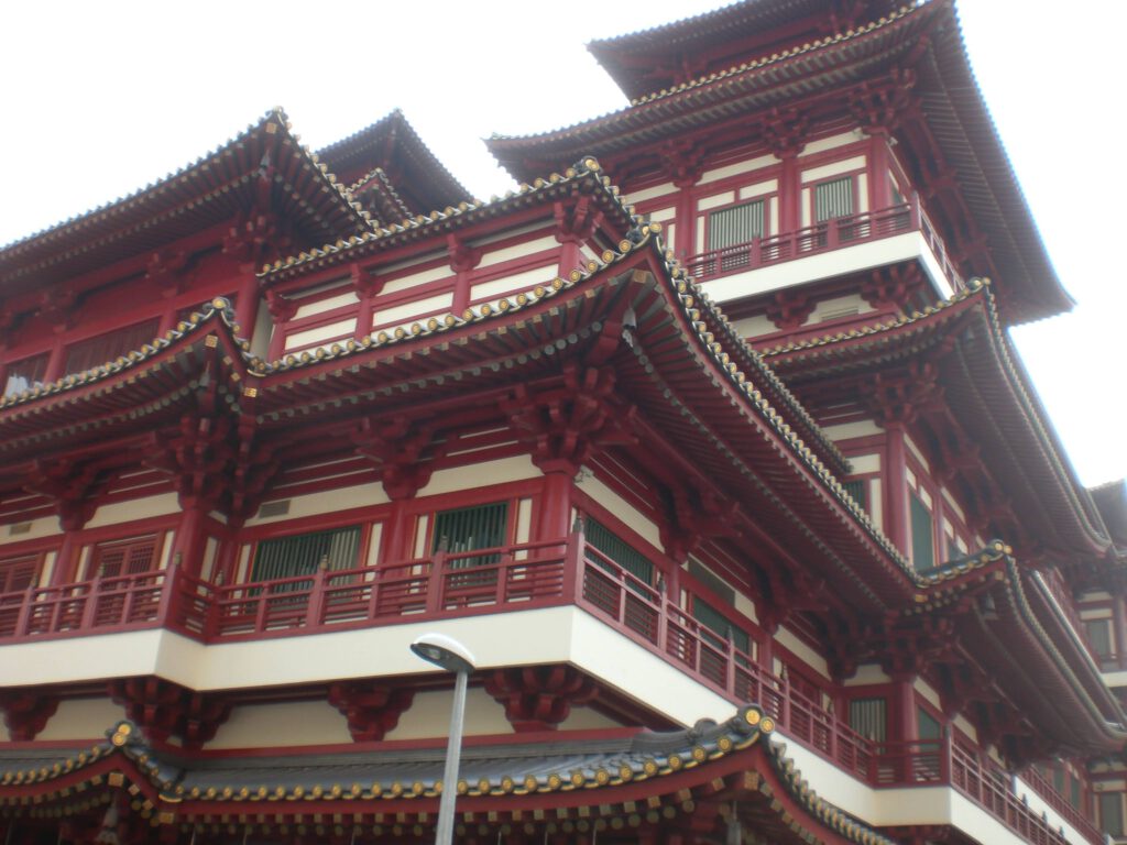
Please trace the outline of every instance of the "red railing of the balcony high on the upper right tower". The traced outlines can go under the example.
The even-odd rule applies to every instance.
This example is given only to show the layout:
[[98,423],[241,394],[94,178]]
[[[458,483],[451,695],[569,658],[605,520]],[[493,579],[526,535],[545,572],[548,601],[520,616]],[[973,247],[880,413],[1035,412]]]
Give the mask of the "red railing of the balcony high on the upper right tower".
[[905,232],[919,232],[951,286],[964,286],[962,277],[948,256],[943,239],[920,206],[916,196],[911,202],[887,208],[835,217],[792,232],[755,238],[746,243],[701,252],[689,258],[685,266],[698,281],[706,282]]

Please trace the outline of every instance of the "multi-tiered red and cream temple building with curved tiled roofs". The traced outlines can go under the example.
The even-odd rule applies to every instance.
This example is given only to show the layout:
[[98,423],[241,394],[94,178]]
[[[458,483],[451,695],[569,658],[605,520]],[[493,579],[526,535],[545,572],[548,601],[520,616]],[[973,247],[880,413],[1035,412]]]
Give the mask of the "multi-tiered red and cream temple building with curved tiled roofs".
[[589,48],[503,197],[275,110],[0,249],[5,845],[1127,842],[1127,492],[953,2]]

